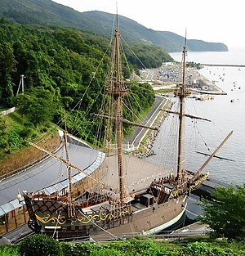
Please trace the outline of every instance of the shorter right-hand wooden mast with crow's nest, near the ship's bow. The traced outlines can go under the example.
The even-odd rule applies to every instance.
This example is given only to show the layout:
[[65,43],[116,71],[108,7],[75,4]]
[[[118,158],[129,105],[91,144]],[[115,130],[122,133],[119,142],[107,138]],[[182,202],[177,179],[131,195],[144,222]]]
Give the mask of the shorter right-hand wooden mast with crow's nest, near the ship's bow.
[[180,115],[179,115],[179,137],[178,137],[178,162],[177,162],[177,184],[182,182],[182,162],[183,162],[183,137],[184,137],[184,116],[185,116],[185,97],[189,96],[190,92],[185,85],[185,56],[187,52],[186,34],[185,45],[183,47],[183,66],[182,66],[182,84],[176,89],[175,95],[180,99]]

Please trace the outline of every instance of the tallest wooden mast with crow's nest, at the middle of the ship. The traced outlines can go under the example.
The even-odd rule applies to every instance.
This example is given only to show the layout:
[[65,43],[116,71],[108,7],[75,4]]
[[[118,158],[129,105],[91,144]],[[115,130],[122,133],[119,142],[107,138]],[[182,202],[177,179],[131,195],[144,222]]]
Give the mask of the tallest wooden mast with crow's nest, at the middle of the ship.
[[129,92],[129,89],[124,87],[122,80],[122,65],[120,55],[120,33],[118,29],[118,15],[117,15],[117,29],[114,34],[114,54],[113,54],[113,75],[112,80],[109,81],[109,94],[114,97],[115,103],[115,124],[117,136],[117,153],[118,153],[118,182],[120,190],[120,200],[123,202],[126,197],[125,190],[125,170],[123,168],[123,151],[122,151],[122,99]]

